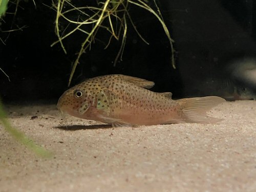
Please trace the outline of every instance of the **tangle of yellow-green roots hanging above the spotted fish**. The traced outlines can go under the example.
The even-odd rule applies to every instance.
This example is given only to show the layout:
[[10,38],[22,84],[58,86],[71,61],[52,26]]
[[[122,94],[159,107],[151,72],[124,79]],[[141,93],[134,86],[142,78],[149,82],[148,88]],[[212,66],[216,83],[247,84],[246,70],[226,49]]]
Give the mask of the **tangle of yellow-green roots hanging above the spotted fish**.
[[[81,41],[81,47],[78,51],[78,55],[73,64],[71,75],[69,78],[69,85],[74,75],[75,69],[80,61],[80,57],[88,49],[90,50],[92,43],[95,41],[97,33],[100,29],[105,30],[109,33],[109,42],[106,44],[105,49],[109,47],[112,39],[121,40],[121,46],[117,53],[114,61],[114,66],[118,60],[122,60],[122,54],[124,51],[125,40],[127,35],[127,22],[130,21],[134,30],[137,32],[139,37],[146,43],[148,42],[140,35],[139,31],[130,15],[130,6],[135,5],[148,12],[151,12],[161,23],[164,32],[169,40],[171,54],[172,54],[172,65],[175,68],[174,61],[174,40],[170,37],[170,33],[164,23],[160,9],[157,6],[156,0],[153,0],[153,5],[156,11],[152,8],[152,5],[147,0],[105,0],[96,2],[90,6],[89,3],[83,3],[83,6],[76,7],[75,1],[68,0],[57,0],[53,7],[56,11],[55,20],[55,32],[58,36],[58,40],[55,41],[51,46],[59,43],[63,51],[67,54],[63,40],[68,38],[75,32],[81,32],[84,34],[84,39]],[[64,29],[60,29],[61,24],[66,23]]]

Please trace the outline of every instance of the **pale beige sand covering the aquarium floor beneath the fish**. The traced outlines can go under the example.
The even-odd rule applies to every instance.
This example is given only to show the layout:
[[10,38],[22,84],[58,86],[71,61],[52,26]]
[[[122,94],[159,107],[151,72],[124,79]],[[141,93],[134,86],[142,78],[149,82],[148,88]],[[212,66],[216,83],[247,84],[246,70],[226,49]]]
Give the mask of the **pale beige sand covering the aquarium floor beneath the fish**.
[[256,191],[256,101],[225,102],[217,124],[112,128],[54,105],[7,106],[54,153],[39,158],[0,129],[0,191]]

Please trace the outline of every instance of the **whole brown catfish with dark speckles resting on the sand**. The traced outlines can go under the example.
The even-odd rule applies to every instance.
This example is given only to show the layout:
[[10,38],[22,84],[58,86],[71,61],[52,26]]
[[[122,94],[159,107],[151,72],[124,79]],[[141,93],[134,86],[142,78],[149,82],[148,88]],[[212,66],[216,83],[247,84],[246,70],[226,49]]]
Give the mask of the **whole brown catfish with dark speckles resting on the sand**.
[[217,96],[173,100],[171,92],[148,89],[153,81],[121,74],[87,79],[64,92],[57,109],[78,118],[117,126],[216,123],[207,111],[225,102]]

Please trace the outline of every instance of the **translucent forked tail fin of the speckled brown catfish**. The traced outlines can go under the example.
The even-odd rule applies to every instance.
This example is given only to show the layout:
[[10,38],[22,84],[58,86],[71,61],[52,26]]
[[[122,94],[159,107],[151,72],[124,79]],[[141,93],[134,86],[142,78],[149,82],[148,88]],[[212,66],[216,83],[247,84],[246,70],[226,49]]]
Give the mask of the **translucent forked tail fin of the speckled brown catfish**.
[[206,112],[226,100],[221,97],[208,96],[179,99],[178,101],[182,106],[185,122],[216,123],[222,119],[208,117]]

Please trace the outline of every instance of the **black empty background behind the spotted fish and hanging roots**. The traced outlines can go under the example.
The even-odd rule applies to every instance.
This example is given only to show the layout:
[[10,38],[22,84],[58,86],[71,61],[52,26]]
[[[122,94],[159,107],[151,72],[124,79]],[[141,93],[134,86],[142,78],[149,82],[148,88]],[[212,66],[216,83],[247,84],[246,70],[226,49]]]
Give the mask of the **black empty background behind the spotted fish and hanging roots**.
[[[255,98],[256,88],[233,79],[226,69],[234,61],[256,57],[256,1],[160,0],[158,4],[175,40],[176,70],[159,21],[131,6],[134,23],[150,45],[144,44],[129,24],[122,61],[113,67],[120,42],[113,41],[104,50],[104,44],[96,41],[81,57],[72,86],[99,75],[125,74],[155,81],[153,91],[170,91],[174,98]],[[32,1],[21,2],[15,19],[7,14],[1,22],[2,31],[10,29],[11,24],[13,28],[27,26],[22,31],[0,33],[6,44],[0,42],[0,68],[11,80],[0,72],[0,95],[5,102],[56,102],[68,89],[71,65],[84,37],[77,34],[63,41],[67,55],[59,44],[50,47],[57,40],[55,12],[46,5],[51,6],[51,1],[37,1],[36,8]],[[104,34],[100,37],[108,42]]]

